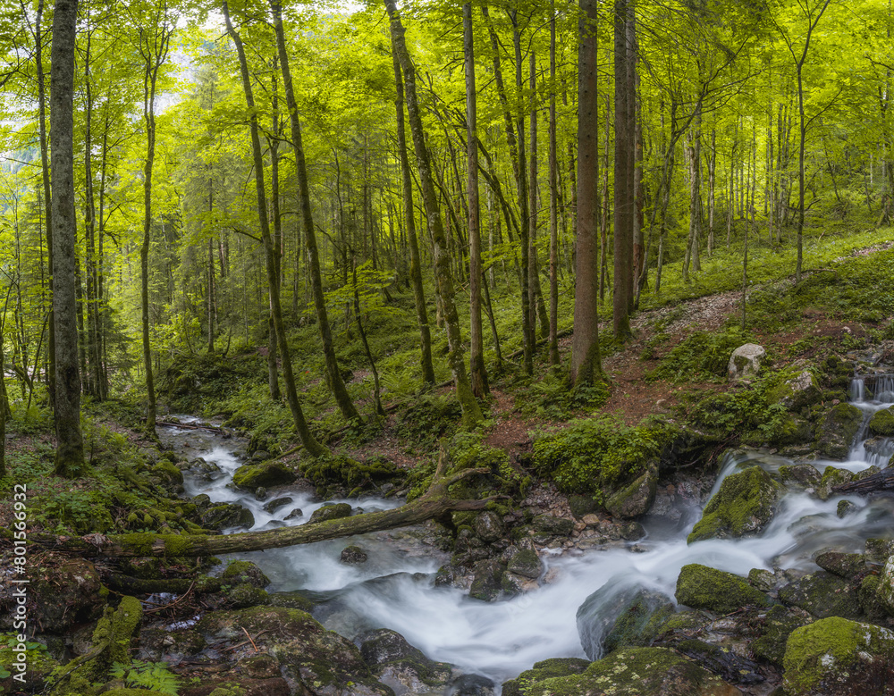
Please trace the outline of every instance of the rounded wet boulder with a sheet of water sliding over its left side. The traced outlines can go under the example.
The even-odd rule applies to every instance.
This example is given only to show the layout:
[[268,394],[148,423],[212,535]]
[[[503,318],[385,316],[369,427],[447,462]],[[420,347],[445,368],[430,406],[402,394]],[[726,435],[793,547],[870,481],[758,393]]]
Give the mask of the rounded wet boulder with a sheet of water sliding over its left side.
[[618,648],[651,645],[674,611],[673,600],[660,592],[606,583],[578,608],[580,644],[590,659]]

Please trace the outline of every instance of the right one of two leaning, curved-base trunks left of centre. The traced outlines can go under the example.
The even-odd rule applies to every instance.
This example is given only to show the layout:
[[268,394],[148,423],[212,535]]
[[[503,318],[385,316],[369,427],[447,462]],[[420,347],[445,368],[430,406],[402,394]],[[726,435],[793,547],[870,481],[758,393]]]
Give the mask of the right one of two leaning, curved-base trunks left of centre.
[[335,357],[332,329],[329,326],[329,316],[326,314],[326,300],[323,294],[323,278],[320,273],[319,251],[316,247],[316,228],[310,208],[310,187],[308,185],[308,168],[305,164],[304,147],[301,140],[301,124],[298,118],[298,105],[295,100],[295,92],[291,82],[291,68],[289,55],[286,52],[285,33],[283,31],[282,6],[275,0],[271,0],[271,10],[274,14],[274,31],[276,33],[276,46],[279,55],[280,70],[283,71],[283,88],[285,90],[286,106],[289,109],[289,121],[291,122],[291,143],[295,149],[295,170],[298,175],[299,200],[301,206],[301,221],[304,224],[304,239],[308,247],[310,261],[310,281],[313,289],[314,305],[316,306],[316,323],[320,331],[320,340],[323,341],[323,353],[326,361],[326,382],[333,392],[335,403],[338,405],[342,416],[348,421],[360,419],[357,408],[351,401],[350,394],[344,386],[342,373],[339,370],[338,360]]

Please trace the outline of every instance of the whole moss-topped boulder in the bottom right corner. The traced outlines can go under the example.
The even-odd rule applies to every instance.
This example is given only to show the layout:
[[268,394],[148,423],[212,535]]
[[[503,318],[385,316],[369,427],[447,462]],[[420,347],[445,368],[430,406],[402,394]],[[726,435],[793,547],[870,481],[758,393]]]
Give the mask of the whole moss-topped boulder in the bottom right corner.
[[894,633],[839,616],[791,633],[783,658],[788,696],[868,696],[894,683]]

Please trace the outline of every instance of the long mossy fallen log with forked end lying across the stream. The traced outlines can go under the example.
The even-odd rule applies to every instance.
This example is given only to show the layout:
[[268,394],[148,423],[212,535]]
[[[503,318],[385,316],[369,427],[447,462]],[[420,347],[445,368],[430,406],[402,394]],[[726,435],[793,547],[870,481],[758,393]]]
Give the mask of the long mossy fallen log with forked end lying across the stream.
[[457,474],[445,475],[445,468],[446,457],[442,456],[428,491],[401,507],[326,522],[226,535],[134,532],[108,536],[89,534],[84,537],[59,537],[53,534],[31,534],[30,539],[45,549],[76,553],[84,558],[217,556],[224,553],[282,549],[298,544],[421,524],[448,512],[483,510],[491,500],[504,497],[492,496],[480,500],[451,499],[448,489],[453,483],[474,474],[488,474],[490,470],[466,469]]

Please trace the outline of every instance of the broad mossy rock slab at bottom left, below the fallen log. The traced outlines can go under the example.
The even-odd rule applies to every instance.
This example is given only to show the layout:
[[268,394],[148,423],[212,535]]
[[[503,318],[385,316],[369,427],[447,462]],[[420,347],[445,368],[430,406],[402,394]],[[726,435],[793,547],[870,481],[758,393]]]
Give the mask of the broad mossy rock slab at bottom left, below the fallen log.
[[[351,641],[326,631],[313,616],[299,609],[266,606],[213,611],[202,617],[197,628],[209,643],[242,642],[245,629],[258,649],[279,661],[283,676],[306,683],[308,691],[320,696],[392,694],[375,680]],[[254,654],[250,644],[243,650],[246,656]]]

